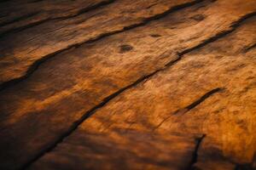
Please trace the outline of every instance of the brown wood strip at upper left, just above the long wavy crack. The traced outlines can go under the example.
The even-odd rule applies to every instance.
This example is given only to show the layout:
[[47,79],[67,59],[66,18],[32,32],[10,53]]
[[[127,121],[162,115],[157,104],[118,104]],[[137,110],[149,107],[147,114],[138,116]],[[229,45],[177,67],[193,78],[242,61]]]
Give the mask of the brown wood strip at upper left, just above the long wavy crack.
[[26,74],[35,70],[38,63],[67,48],[129,30],[196,2],[198,0],[161,0],[158,3],[155,0],[125,0],[76,17],[44,20],[42,16],[39,20],[44,20],[44,23],[39,26],[19,32],[19,37],[11,34],[0,41],[3,55],[0,60],[0,83],[26,77]]

